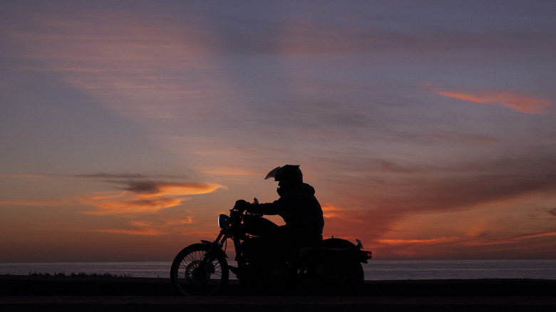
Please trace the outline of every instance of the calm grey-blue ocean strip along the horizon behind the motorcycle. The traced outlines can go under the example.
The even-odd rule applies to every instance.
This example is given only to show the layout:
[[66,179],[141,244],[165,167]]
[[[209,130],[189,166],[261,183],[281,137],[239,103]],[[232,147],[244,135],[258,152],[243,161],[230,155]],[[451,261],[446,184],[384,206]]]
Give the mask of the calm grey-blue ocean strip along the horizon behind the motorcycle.
[[[113,274],[168,279],[168,261],[0,263],[0,274]],[[234,265],[230,262],[230,265]],[[370,260],[367,281],[418,279],[556,279],[556,260]],[[233,279],[230,274],[230,279]]]

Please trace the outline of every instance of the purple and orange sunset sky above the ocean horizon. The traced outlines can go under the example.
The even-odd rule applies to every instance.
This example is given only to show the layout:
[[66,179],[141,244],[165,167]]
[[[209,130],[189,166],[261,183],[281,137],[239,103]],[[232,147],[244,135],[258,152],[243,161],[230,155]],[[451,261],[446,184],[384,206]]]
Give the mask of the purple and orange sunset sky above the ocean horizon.
[[0,0],[0,262],[171,261],[285,164],[375,259],[556,259],[556,1]]

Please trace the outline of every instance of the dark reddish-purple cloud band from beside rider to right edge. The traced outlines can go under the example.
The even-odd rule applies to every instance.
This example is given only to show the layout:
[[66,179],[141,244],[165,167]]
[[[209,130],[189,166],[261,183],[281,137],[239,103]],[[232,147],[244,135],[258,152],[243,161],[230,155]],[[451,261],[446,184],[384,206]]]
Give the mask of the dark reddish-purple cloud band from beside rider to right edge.
[[[411,212],[449,211],[467,209],[476,204],[512,199],[527,194],[556,192],[556,170],[551,155],[527,157],[500,157],[495,160],[475,162],[408,164],[379,158],[357,160],[359,172],[336,176],[339,185],[366,187],[342,188],[341,198],[352,207],[361,206],[361,196],[366,208],[385,214]],[[354,166],[354,163],[351,163]],[[556,208],[550,209],[556,214]]]

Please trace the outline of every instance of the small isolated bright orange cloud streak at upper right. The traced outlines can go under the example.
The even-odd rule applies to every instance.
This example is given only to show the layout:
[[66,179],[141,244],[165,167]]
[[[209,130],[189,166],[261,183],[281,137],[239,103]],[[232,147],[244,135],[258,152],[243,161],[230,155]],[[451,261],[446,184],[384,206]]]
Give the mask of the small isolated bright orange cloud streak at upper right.
[[549,100],[513,91],[468,90],[465,92],[436,91],[436,93],[473,103],[499,104],[526,114],[547,114],[547,109],[552,105]]

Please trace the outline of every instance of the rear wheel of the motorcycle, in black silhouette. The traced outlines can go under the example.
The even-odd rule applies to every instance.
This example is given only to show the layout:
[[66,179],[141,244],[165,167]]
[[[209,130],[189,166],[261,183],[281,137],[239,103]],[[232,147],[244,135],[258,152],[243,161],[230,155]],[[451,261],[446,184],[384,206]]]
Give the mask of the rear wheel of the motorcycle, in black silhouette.
[[321,296],[350,296],[359,294],[364,281],[359,261],[322,259],[314,268],[316,291]]

